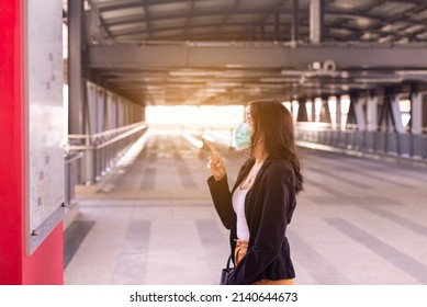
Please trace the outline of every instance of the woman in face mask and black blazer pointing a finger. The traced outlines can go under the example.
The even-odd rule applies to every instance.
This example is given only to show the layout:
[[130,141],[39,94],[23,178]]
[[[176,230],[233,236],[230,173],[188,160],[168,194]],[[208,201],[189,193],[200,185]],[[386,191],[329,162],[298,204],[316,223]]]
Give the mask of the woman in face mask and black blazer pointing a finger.
[[248,104],[236,130],[237,148],[249,148],[229,191],[223,160],[213,145],[207,167],[212,200],[231,229],[235,270],[227,284],[293,284],[295,272],[285,237],[303,190],[291,113],[278,101]]

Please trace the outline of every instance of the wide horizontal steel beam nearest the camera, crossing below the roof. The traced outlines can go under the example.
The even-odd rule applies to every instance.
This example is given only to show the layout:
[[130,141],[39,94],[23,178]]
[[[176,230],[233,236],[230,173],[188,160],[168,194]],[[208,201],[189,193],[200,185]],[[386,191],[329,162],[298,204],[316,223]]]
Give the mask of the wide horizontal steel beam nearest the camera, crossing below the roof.
[[427,48],[420,45],[300,45],[193,43],[164,45],[93,45],[87,67],[95,68],[289,68],[307,69],[313,61],[332,59],[338,69],[427,68]]

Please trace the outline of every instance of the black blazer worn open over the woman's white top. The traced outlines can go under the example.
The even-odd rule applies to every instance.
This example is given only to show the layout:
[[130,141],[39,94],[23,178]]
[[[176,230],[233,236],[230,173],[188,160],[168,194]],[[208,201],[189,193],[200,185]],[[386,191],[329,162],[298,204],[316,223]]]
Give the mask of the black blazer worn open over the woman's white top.
[[[213,177],[207,179],[215,209],[224,226],[231,229],[233,262],[237,216],[233,209],[232,193],[246,178],[254,163],[254,158],[244,163],[232,192],[227,177],[220,181],[215,181]],[[248,251],[235,268],[228,284],[245,285],[261,278],[295,277],[285,237],[286,226],[296,205],[294,182],[294,172],[288,162],[271,158],[263,162],[245,200],[245,214],[250,235]]]

